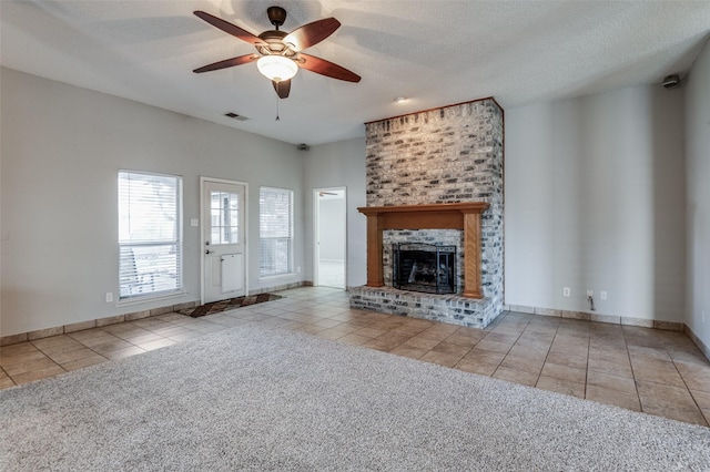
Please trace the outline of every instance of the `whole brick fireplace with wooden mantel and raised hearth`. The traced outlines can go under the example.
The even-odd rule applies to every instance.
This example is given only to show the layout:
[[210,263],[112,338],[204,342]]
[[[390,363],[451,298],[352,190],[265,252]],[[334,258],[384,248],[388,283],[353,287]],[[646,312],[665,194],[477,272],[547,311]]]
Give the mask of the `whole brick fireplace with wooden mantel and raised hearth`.
[[[351,306],[487,326],[503,312],[503,110],[483,99],[365,126],[367,284]],[[456,246],[456,293],[395,289],[400,243]]]

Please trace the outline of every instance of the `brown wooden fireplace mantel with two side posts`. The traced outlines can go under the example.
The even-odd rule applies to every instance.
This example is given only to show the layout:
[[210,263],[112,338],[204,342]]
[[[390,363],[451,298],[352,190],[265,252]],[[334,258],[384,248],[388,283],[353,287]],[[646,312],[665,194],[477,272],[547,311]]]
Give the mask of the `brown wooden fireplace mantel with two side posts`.
[[384,229],[462,229],[464,232],[464,293],[467,298],[483,298],[480,287],[480,214],[486,202],[442,203],[430,205],[363,206],[367,216],[367,286],[385,285],[382,267]]

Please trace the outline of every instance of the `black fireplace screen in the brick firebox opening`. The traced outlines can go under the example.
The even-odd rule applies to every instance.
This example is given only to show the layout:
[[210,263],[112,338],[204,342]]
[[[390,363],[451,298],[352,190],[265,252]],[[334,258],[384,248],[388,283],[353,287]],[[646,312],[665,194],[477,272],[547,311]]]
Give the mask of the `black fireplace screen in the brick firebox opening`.
[[395,288],[427,294],[456,293],[456,246],[396,243],[393,256]]

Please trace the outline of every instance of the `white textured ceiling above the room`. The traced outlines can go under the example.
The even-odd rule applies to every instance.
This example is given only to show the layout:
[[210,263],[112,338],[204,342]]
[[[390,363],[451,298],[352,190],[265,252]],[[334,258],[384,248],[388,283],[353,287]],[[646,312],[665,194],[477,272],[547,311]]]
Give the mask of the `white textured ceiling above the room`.
[[[278,101],[254,63],[192,72],[254,51],[193,10],[258,34],[272,29],[272,4],[288,12],[284,31],[338,19],[305,52],[362,81],[301,70]],[[2,0],[0,19],[4,66],[313,145],[361,136],[364,122],[478,98],[506,109],[682,75],[709,38],[710,1]],[[395,104],[400,95],[410,100]]]

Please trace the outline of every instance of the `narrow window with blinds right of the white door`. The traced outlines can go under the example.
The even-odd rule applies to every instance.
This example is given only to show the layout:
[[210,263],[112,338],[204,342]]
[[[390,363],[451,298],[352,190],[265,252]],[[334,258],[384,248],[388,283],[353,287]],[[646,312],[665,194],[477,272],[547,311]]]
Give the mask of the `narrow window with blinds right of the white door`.
[[293,192],[261,187],[258,192],[260,275],[293,273]]

